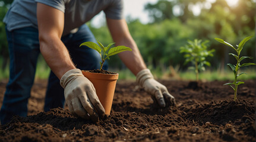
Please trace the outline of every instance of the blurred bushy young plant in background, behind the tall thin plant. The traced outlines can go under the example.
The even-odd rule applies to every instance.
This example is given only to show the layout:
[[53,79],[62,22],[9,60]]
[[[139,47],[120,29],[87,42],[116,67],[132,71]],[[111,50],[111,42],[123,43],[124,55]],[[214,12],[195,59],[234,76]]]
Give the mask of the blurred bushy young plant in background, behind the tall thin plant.
[[207,56],[213,57],[214,49],[208,51],[208,47],[206,46],[208,40],[202,43],[201,40],[195,39],[194,42],[188,40],[188,44],[185,47],[180,48],[180,53],[185,53],[184,57],[186,58],[185,63],[192,62],[194,66],[189,67],[188,69],[195,70],[195,75],[197,81],[199,80],[199,71],[205,70],[204,65],[211,66],[210,62],[206,61]]

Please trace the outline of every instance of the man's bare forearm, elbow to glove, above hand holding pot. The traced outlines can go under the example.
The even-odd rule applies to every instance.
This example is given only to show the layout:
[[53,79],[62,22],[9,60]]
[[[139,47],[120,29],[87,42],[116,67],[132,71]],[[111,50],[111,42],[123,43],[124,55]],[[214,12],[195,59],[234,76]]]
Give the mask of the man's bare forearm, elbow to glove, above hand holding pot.
[[40,38],[40,51],[53,73],[61,77],[71,69],[75,69],[68,50],[58,37]]

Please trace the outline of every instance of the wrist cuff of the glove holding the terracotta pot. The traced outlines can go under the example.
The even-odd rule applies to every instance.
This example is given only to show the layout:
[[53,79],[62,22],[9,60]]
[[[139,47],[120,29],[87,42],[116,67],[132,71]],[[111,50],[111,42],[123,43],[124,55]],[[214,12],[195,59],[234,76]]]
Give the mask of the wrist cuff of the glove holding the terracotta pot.
[[62,88],[65,89],[65,87],[67,86],[67,84],[74,79],[76,76],[83,76],[83,73],[80,69],[71,69],[68,70],[68,72],[66,72],[60,80],[60,84],[62,86]]

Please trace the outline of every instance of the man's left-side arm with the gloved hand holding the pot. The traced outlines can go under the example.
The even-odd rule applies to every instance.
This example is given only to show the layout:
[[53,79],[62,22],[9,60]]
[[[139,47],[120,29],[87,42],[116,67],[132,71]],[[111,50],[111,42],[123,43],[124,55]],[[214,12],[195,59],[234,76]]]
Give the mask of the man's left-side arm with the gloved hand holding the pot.
[[37,3],[37,23],[40,51],[50,69],[61,80],[69,111],[97,121],[99,117],[103,117],[105,109],[100,104],[93,84],[83,76],[80,69],[75,69],[68,50],[61,41],[64,13]]

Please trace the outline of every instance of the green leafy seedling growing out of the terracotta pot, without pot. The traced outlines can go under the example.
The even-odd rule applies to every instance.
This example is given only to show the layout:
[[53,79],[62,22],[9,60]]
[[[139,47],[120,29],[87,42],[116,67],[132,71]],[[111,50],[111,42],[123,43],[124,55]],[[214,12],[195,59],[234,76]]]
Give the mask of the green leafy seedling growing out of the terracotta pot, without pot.
[[115,43],[110,43],[107,47],[104,47],[102,45],[102,43],[100,43],[99,41],[97,41],[97,43],[100,46],[98,46],[96,43],[93,43],[91,41],[87,41],[87,42],[84,42],[84,43],[80,44],[80,47],[81,46],[87,46],[91,49],[96,50],[98,53],[100,53],[100,58],[102,59],[102,62],[100,62],[100,71],[102,71],[103,63],[106,61],[106,59],[109,59],[109,56],[113,56],[113,55],[118,54],[122,51],[131,51],[132,50],[129,47],[126,47],[126,46],[116,46],[116,47],[110,48]]

